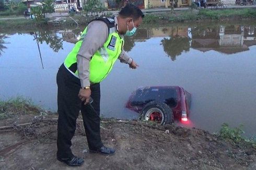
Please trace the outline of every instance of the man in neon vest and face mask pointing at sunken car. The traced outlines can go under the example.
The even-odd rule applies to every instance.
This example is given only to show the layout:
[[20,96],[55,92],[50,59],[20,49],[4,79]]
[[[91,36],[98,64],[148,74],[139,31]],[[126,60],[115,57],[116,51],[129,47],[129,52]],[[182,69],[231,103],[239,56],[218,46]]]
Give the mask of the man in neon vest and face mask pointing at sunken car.
[[[92,20],[67,55],[57,73],[57,160],[69,166],[84,163],[70,148],[79,111],[89,151],[104,155],[115,153],[114,149],[105,147],[100,138],[100,82],[108,76],[117,59],[132,69],[137,68],[123,50],[123,35],[133,35],[143,17],[138,7],[127,4],[116,17]],[[90,99],[93,99],[91,104]]]

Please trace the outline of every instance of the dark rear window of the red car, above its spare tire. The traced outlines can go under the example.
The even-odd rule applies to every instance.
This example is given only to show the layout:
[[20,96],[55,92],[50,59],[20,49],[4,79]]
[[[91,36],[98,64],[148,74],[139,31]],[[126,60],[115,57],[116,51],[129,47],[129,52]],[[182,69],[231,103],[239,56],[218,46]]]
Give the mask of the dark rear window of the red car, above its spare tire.
[[175,107],[177,105],[177,90],[175,88],[138,89],[131,100],[131,105],[145,105],[154,100],[165,102],[170,107]]

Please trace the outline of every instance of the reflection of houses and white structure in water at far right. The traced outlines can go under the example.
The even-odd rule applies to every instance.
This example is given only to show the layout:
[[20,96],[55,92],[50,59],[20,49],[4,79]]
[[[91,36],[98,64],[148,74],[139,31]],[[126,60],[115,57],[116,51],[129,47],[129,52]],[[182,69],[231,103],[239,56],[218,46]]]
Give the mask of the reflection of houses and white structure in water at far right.
[[215,28],[192,29],[191,47],[202,51],[218,51],[234,54],[249,50],[256,45],[255,26],[219,26]]

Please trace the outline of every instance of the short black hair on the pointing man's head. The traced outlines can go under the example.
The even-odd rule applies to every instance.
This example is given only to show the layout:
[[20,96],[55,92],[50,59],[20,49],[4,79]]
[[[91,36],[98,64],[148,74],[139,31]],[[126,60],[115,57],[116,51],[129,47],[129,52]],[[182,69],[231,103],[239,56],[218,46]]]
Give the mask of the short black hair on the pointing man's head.
[[119,15],[123,18],[132,17],[134,20],[137,20],[139,17],[144,17],[141,9],[130,3],[127,3],[125,7],[121,9]]

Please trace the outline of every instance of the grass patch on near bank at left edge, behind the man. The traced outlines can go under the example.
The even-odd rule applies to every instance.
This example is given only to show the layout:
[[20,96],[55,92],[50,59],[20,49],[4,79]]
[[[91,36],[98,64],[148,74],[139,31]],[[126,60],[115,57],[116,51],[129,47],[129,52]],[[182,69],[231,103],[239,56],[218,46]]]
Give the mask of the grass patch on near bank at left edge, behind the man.
[[38,114],[41,109],[31,102],[30,99],[18,96],[15,99],[0,101],[0,120],[24,114]]

